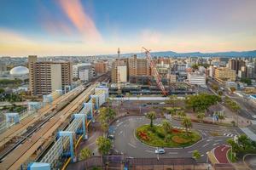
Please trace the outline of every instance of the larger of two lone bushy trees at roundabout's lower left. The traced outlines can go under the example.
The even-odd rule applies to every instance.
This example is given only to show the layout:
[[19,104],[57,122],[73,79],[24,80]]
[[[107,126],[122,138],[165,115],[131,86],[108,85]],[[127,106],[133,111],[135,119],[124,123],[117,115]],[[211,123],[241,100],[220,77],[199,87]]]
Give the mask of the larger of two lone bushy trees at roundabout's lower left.
[[106,156],[108,155],[108,152],[112,148],[112,143],[110,139],[107,139],[103,136],[100,136],[96,139],[96,144],[98,147],[98,151],[103,155]]

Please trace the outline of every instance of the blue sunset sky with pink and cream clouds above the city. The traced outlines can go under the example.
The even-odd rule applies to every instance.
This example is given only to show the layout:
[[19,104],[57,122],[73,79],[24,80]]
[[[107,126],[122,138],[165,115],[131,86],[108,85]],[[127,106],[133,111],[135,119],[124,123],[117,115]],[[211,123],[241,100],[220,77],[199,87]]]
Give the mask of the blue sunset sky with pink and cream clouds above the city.
[[256,49],[255,0],[1,0],[0,56]]

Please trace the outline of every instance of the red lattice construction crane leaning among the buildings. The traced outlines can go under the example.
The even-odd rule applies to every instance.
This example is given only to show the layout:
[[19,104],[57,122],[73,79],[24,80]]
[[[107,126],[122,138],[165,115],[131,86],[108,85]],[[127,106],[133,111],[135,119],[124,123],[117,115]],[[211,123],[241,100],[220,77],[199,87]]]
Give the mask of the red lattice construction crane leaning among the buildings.
[[143,48],[145,50],[145,54],[146,54],[146,59],[148,60],[148,64],[151,68],[151,71],[153,73],[153,76],[154,76],[154,79],[155,79],[155,82],[157,83],[157,86],[160,88],[160,90],[162,91],[162,94],[164,94],[165,96],[167,95],[167,92],[166,92],[166,89],[163,85],[163,83],[161,82],[161,78],[160,78],[160,75],[156,69],[156,66],[154,64],[154,60],[151,59],[151,55],[149,53],[149,50],[146,49],[146,48]]

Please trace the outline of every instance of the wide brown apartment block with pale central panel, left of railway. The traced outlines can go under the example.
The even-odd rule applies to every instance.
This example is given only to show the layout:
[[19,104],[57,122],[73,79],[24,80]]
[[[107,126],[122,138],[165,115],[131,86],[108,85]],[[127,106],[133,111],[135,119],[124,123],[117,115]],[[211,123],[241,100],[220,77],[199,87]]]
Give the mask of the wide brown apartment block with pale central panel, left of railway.
[[29,90],[32,95],[45,95],[57,89],[64,90],[72,82],[72,63],[38,61],[36,55],[28,56]]

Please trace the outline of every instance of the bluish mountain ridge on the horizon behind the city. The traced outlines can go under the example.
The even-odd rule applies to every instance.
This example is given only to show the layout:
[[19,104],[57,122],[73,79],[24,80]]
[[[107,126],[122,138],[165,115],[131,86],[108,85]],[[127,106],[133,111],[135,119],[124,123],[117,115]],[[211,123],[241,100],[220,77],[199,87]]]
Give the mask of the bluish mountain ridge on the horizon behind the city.
[[[135,53],[138,57],[143,57],[143,53]],[[151,52],[152,56],[170,56],[170,57],[256,57],[256,50],[253,51],[230,51],[230,52],[218,52],[218,53],[176,53],[173,51],[160,51],[160,52]],[[133,54],[121,54],[123,57],[130,57]]]

